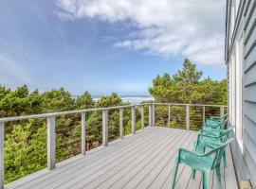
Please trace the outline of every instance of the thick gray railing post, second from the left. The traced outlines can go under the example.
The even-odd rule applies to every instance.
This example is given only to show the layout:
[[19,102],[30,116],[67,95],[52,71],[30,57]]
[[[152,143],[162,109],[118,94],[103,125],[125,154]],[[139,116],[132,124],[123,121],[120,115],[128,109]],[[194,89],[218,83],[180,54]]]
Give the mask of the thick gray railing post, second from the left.
[[55,168],[55,116],[47,117],[47,168]]

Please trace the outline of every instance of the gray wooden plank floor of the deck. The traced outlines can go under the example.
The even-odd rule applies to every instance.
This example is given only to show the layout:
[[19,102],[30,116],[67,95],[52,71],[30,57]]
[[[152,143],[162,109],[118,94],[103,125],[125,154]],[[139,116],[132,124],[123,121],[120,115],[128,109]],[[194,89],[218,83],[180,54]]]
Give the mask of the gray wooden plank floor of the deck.
[[[140,130],[133,136],[97,147],[48,171],[46,169],[10,183],[6,188],[171,188],[174,161],[179,147],[192,149],[195,131],[160,127]],[[228,167],[222,168],[223,188],[236,189],[236,179],[227,149]],[[191,179],[191,169],[179,167],[176,188],[200,188],[201,174]],[[210,188],[217,188],[215,173]]]

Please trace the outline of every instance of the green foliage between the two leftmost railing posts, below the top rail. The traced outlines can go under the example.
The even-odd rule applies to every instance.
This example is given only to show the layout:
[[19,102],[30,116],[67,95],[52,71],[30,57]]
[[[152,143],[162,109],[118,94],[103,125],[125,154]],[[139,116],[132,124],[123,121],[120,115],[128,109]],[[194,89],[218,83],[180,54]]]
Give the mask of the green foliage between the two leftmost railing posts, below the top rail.
[[5,141],[5,180],[19,179],[46,167],[46,125],[33,130],[35,120],[14,125]]

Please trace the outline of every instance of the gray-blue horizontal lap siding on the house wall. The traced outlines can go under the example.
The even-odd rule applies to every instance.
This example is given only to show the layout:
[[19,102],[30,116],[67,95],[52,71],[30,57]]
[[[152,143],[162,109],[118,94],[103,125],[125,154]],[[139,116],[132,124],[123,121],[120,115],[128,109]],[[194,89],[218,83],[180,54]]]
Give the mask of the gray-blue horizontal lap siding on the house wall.
[[256,1],[244,0],[243,4],[243,23],[236,23],[235,28],[244,28],[244,148],[242,152],[235,141],[231,149],[238,180],[249,179],[256,188]]

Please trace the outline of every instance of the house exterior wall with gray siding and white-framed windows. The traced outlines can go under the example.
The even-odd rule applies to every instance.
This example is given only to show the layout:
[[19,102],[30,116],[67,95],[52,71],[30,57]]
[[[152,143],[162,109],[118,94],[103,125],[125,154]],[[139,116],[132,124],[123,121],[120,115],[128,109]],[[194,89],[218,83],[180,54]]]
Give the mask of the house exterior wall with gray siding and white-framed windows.
[[256,1],[227,0],[225,59],[231,145],[238,180],[256,188]]

